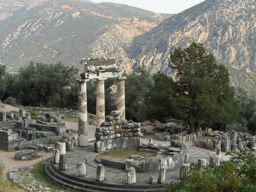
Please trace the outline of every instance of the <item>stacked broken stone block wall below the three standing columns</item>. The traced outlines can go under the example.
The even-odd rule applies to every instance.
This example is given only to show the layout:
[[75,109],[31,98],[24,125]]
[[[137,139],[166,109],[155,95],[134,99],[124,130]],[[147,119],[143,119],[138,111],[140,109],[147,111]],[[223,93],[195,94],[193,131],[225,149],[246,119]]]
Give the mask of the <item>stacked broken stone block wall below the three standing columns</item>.
[[140,123],[120,120],[120,111],[111,111],[96,128],[94,148],[97,153],[108,149],[138,148],[141,143]]

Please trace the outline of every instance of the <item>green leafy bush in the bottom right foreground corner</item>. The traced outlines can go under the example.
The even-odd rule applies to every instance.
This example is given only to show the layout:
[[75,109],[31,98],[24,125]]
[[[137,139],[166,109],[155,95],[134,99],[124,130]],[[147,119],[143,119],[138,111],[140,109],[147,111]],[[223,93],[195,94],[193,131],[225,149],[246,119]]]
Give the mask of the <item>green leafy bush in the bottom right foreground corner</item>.
[[255,191],[256,157],[246,150],[230,150],[229,161],[221,162],[215,168],[202,167],[191,163],[186,180],[164,183],[167,192],[226,192]]

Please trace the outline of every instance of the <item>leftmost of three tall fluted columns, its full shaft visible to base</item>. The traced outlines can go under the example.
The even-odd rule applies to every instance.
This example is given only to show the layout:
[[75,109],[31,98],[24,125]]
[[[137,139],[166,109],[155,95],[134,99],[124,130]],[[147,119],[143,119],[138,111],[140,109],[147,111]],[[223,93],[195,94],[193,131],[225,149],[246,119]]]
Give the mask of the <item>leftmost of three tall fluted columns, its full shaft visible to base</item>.
[[78,146],[88,145],[87,131],[87,96],[86,82],[89,79],[76,79],[78,81]]

